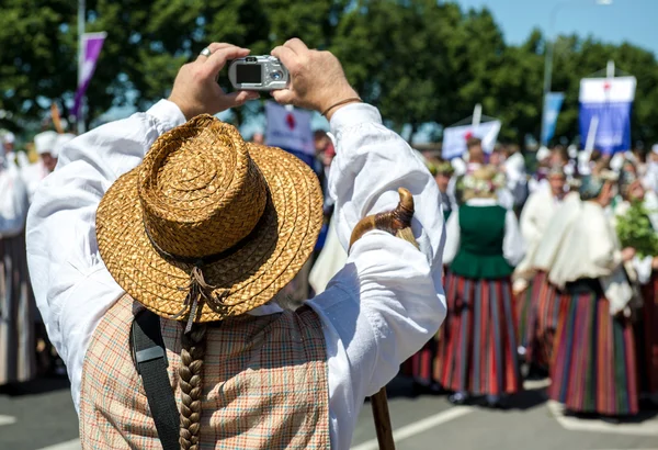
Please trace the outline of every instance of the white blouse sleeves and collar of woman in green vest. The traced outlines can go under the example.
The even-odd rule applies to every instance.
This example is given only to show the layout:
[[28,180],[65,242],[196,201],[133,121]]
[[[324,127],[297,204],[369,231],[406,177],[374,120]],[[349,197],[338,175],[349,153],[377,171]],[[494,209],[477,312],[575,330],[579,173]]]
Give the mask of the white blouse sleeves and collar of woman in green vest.
[[[494,206],[500,204],[496,199],[472,199],[466,202],[468,206]],[[504,206],[503,206],[504,207]],[[445,249],[443,251],[443,262],[450,265],[460,251],[460,235],[462,230],[460,228],[460,213],[453,211],[447,218],[445,225],[445,234],[447,239],[445,241]],[[510,266],[517,266],[525,255],[525,245],[523,244],[523,237],[519,230],[519,221],[513,211],[508,210],[504,215],[504,237],[502,238],[502,256],[510,263]]]

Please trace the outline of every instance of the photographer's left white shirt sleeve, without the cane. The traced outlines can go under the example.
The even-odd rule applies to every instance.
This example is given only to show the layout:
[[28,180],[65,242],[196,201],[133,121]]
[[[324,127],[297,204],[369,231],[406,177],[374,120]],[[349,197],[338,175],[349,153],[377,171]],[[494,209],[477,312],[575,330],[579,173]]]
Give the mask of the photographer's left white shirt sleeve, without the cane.
[[97,207],[158,136],[184,121],[178,106],[163,100],[147,113],[77,137],[34,196],[26,235],[30,275],[48,336],[71,378],[76,407],[91,336],[123,293],[99,255]]

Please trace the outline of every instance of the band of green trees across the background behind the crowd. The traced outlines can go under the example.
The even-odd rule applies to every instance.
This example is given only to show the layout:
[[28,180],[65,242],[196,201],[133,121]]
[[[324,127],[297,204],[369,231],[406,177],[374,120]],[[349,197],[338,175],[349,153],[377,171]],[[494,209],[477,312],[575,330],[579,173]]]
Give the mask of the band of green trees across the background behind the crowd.
[[[53,100],[70,104],[76,8],[70,0],[0,0],[0,109],[13,121],[45,115]],[[545,38],[535,30],[507,45],[487,9],[435,0],[87,0],[87,31],[107,32],[88,91],[90,121],[111,106],[141,110],[167,95],[180,65],[208,42],[265,54],[299,36],[339,56],[364,100],[398,131],[449,126],[479,102],[502,120],[501,139],[540,133]],[[637,77],[633,138],[658,140],[656,57],[577,36],[555,45],[553,89],[567,94],[556,137],[577,136],[580,79],[609,59]]]

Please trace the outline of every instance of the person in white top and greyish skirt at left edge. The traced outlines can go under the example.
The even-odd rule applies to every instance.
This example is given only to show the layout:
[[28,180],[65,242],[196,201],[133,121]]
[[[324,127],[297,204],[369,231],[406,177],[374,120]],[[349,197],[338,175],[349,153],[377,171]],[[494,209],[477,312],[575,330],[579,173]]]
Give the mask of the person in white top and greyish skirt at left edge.
[[34,319],[25,259],[27,191],[13,153],[0,156],[0,385],[35,375]]

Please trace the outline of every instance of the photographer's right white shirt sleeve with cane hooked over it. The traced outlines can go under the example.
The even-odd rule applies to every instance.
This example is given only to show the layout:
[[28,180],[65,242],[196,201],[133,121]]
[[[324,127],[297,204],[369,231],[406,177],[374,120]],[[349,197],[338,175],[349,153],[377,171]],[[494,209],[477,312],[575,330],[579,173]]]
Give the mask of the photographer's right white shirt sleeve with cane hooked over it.
[[341,430],[332,435],[332,448],[347,449],[364,397],[388,383],[445,317],[444,224],[436,183],[408,144],[382,125],[375,108],[339,110],[331,131],[338,145],[329,190],[343,246],[362,217],[397,205],[400,187],[413,194],[420,245],[418,251],[384,232],[367,233],[327,290],[309,302],[325,327],[330,420]]

